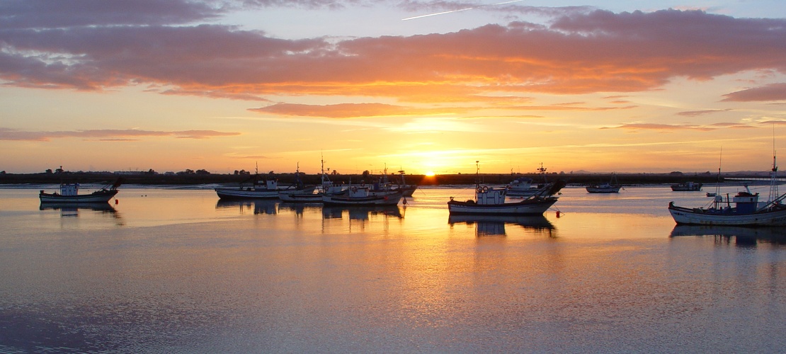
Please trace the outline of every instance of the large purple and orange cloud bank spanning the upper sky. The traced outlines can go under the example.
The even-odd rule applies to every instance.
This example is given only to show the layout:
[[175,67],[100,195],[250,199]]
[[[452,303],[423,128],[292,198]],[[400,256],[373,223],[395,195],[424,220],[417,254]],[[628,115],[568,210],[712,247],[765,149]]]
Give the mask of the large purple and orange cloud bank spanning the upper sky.
[[[159,18],[149,19],[155,14],[144,6],[128,5],[126,14],[105,20],[112,24],[94,20],[84,26],[89,21],[76,10],[46,11],[46,17],[55,18],[39,20],[35,28],[32,13],[43,2],[31,2],[34,7],[10,2],[3,8],[8,12],[2,12],[12,23],[0,29],[0,79],[9,86],[76,90],[142,83],[168,87],[163,94],[248,100],[353,95],[459,102],[492,93],[627,93],[653,90],[677,77],[786,72],[786,20],[780,19],[737,19],[698,10],[552,9],[556,18],[549,26],[512,22],[446,34],[291,40],[231,26],[186,24],[227,10],[213,2],[148,1],[161,11]],[[97,17],[126,2],[104,3],[84,0],[84,6],[73,7]],[[176,9],[183,14],[175,15]],[[783,92],[779,86],[769,90]],[[742,92],[726,99],[747,97]]]

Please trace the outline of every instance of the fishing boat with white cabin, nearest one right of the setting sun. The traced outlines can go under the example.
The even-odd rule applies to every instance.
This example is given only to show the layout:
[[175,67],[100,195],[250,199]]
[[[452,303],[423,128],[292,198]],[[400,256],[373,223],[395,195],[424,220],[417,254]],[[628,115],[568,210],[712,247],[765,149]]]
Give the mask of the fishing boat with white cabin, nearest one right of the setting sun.
[[[565,183],[558,181],[552,186],[553,190],[560,190],[565,186]],[[479,183],[475,185],[475,199],[468,201],[456,201],[454,197],[450,197],[447,202],[448,212],[450,215],[454,214],[472,214],[472,215],[508,215],[508,216],[534,216],[542,215],[543,212],[551,208],[556,203],[556,197],[552,197],[553,190],[544,192],[544,195],[533,195],[527,197],[522,201],[512,203],[505,202],[505,195],[507,188],[493,188],[489,186],[481,186]]]

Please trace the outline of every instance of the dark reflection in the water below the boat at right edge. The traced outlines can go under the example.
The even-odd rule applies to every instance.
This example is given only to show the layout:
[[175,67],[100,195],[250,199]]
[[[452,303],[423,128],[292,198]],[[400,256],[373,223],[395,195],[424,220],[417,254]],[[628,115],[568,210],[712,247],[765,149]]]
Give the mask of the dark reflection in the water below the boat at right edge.
[[670,237],[680,236],[712,236],[715,242],[723,244],[734,242],[740,247],[755,246],[759,242],[786,245],[786,230],[783,227],[677,225],[674,230],[671,230]]

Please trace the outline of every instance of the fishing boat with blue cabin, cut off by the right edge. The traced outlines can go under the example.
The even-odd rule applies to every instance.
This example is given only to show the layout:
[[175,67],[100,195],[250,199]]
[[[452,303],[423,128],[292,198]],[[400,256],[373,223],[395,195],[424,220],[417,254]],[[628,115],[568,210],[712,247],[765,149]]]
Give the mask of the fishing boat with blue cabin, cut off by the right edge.
[[777,195],[777,166],[773,157],[769,201],[759,202],[745,186],[734,197],[716,195],[707,208],[685,208],[669,203],[669,212],[678,225],[786,226],[786,194]]

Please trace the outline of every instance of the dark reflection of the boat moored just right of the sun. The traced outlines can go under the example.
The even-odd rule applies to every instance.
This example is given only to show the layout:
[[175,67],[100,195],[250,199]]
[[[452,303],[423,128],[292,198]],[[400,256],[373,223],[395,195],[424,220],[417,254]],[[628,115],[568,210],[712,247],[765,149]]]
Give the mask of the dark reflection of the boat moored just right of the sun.
[[533,234],[555,236],[556,229],[545,216],[482,216],[451,215],[447,222],[452,227],[456,223],[476,225],[477,236],[505,236],[505,225],[513,225]]

